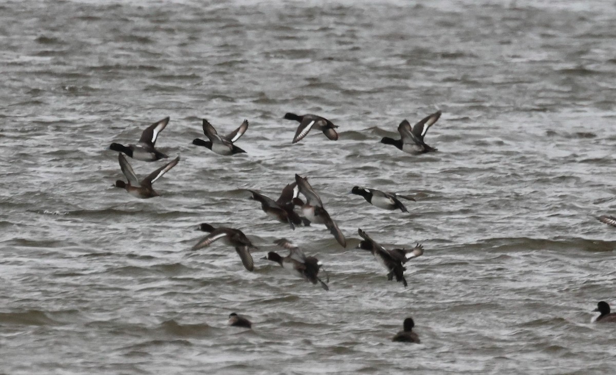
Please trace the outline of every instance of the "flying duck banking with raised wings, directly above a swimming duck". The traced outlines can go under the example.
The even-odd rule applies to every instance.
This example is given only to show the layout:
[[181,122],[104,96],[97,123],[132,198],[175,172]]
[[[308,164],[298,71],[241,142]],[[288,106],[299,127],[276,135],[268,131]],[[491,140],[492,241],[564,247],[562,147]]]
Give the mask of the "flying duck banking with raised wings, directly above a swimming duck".
[[407,280],[404,278],[404,271],[407,270],[402,265],[407,263],[408,259],[416,258],[423,254],[423,247],[419,244],[412,250],[393,249],[386,250],[383,246],[376,243],[370,236],[359,229],[360,237],[363,241],[357,245],[357,248],[368,250],[375,256],[376,261],[381,263],[388,271],[387,280],[392,280],[395,276],[395,281],[402,282],[407,286]]

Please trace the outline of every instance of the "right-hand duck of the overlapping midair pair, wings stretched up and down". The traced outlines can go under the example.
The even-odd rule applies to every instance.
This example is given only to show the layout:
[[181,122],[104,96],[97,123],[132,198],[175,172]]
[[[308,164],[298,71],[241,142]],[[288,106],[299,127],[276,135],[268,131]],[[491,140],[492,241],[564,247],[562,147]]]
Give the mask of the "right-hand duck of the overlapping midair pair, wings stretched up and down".
[[311,223],[325,224],[330,233],[342,247],[346,247],[346,239],[344,234],[338,228],[338,225],[331,219],[330,214],[323,207],[320,197],[317,192],[312,189],[312,186],[308,183],[308,179],[295,175],[296,189],[306,197],[306,203],[304,203],[299,197],[293,198],[293,204],[301,207],[302,214],[310,220]]

